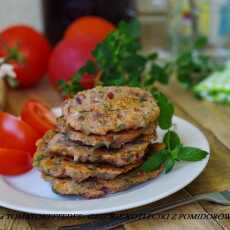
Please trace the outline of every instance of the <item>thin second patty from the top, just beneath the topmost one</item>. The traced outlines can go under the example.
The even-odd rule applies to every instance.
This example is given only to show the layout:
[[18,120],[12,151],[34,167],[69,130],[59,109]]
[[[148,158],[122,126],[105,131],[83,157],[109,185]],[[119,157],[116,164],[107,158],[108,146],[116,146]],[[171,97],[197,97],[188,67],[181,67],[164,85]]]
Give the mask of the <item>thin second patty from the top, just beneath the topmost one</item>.
[[135,140],[140,135],[152,135],[154,139],[156,125],[155,123],[149,125],[148,128],[139,128],[132,130],[124,130],[117,133],[107,133],[106,135],[86,135],[80,131],[75,131],[68,125],[63,117],[58,118],[58,129],[59,131],[66,133],[69,139],[73,141],[79,141],[84,145],[101,147],[106,146],[107,148],[120,148],[125,143]]

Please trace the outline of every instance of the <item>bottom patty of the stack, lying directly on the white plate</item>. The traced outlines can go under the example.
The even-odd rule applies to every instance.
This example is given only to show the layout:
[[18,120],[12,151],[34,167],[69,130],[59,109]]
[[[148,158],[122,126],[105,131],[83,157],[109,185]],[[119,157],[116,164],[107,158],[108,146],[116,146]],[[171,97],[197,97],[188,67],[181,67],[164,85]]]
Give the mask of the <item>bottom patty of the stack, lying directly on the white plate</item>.
[[43,178],[51,182],[53,191],[60,195],[79,195],[90,199],[103,197],[107,193],[125,190],[157,177],[162,171],[163,167],[152,172],[131,171],[113,180],[89,179],[81,183],[77,183],[71,179],[57,179],[45,174],[43,174]]

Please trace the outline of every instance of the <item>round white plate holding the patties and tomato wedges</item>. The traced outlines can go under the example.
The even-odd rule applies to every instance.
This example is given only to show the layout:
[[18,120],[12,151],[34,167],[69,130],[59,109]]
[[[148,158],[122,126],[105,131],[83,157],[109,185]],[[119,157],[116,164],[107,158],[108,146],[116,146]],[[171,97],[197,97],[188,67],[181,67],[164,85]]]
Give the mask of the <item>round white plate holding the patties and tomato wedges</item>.
[[[185,145],[209,152],[207,139],[199,129],[178,117],[174,117],[173,123]],[[158,135],[162,138],[162,130],[158,130]],[[21,176],[0,176],[0,205],[36,214],[89,215],[126,210],[160,200],[184,188],[203,171],[208,159],[209,155],[202,161],[177,163],[168,174],[162,173],[126,191],[92,200],[56,195],[35,169]]]

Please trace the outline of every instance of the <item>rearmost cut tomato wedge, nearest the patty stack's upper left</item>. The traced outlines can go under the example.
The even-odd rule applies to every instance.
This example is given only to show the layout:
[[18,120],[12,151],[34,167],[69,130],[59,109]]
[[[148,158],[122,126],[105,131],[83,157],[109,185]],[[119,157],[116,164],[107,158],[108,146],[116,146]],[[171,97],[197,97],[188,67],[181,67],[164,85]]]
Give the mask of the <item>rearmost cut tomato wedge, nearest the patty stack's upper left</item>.
[[47,106],[37,100],[28,100],[21,111],[21,119],[34,128],[41,136],[55,128],[55,117]]

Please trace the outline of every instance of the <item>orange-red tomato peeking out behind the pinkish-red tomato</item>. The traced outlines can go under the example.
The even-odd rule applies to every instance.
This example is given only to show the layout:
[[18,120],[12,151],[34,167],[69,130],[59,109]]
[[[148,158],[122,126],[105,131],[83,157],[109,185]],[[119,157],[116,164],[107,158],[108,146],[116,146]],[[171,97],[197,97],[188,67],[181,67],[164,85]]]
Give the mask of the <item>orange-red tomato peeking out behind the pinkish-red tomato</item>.
[[85,37],[93,37],[97,42],[101,42],[114,30],[114,25],[103,18],[85,16],[75,20],[67,28],[65,38],[74,38],[82,34]]

